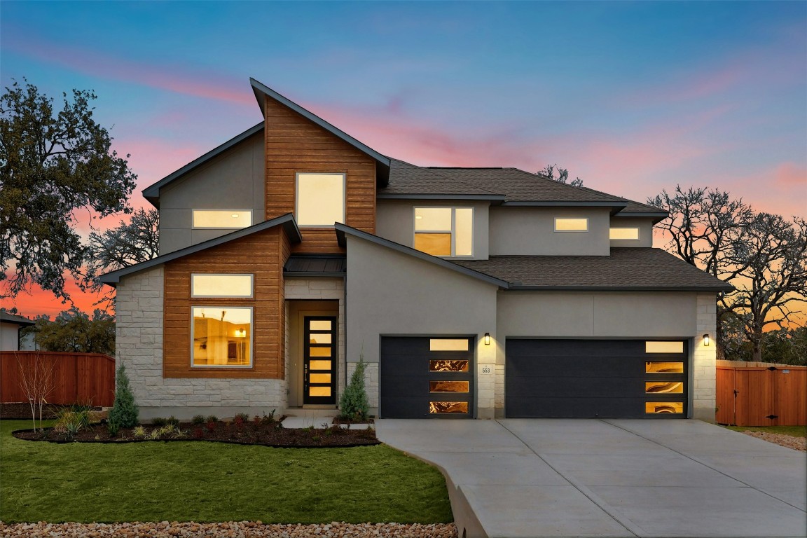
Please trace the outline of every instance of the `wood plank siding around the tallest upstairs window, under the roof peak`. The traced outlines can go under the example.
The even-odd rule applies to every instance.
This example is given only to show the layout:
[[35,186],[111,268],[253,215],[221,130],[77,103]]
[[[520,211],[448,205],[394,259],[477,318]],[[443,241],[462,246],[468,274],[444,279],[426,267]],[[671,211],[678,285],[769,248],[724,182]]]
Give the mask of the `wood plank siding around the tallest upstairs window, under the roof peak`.
[[[266,98],[266,219],[295,211],[295,174],[345,173],[345,224],[375,233],[375,161],[286,106]],[[332,228],[302,228],[292,252],[344,252]]]

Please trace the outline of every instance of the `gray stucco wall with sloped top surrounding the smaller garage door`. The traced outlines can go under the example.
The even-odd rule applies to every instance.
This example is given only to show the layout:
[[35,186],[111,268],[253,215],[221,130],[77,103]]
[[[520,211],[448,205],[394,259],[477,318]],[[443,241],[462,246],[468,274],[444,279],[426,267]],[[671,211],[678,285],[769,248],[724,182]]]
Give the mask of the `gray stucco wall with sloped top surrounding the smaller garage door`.
[[371,406],[378,405],[381,336],[476,336],[478,416],[492,418],[495,373],[480,372],[495,363],[495,344],[484,345],[483,336],[495,339],[497,286],[353,236],[347,252],[348,373],[360,355],[370,363]]

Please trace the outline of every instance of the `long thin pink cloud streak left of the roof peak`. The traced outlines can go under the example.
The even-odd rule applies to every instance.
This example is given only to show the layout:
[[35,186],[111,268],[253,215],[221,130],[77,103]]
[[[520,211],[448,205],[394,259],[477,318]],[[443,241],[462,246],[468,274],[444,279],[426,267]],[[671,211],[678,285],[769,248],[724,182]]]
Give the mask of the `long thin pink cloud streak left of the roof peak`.
[[244,81],[216,73],[204,76],[188,73],[178,65],[155,66],[128,58],[110,56],[101,52],[70,47],[64,43],[44,40],[6,40],[3,44],[16,52],[37,60],[60,65],[94,77],[131,84],[146,85],[177,94],[255,106],[255,98],[244,91]]

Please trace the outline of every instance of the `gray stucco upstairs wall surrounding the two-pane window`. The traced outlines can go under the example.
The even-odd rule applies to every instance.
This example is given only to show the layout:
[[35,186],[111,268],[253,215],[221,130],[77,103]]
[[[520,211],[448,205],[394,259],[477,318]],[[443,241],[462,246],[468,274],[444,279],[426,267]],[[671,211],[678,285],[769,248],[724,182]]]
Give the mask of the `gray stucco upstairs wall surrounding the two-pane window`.
[[474,208],[474,256],[475,260],[487,260],[488,256],[488,210],[490,202],[468,200],[378,200],[376,205],[375,235],[395,243],[413,247],[414,215],[416,207],[473,207]]

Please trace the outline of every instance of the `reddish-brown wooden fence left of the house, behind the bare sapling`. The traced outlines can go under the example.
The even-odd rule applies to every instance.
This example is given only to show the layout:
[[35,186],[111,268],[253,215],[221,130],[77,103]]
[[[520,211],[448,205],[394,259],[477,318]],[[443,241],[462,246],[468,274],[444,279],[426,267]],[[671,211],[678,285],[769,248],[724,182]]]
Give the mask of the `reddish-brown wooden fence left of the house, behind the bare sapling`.
[[53,390],[48,394],[48,403],[112,405],[115,399],[115,359],[102,353],[48,351],[0,352],[0,402],[27,402],[19,362],[31,365],[38,360],[37,357],[53,365]]

